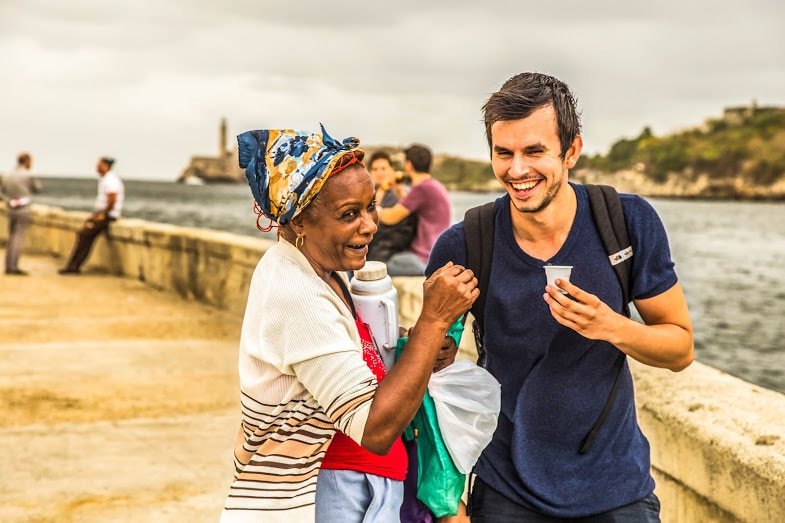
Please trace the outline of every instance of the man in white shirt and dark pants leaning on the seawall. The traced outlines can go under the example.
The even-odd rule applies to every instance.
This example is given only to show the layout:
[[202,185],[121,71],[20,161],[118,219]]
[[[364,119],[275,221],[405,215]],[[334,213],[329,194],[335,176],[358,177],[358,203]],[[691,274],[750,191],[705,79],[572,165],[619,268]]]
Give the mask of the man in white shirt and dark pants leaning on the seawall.
[[60,269],[60,274],[79,274],[95,239],[109,228],[109,223],[120,217],[125,199],[125,186],[120,177],[112,172],[112,165],[114,165],[113,158],[103,157],[98,160],[95,169],[100,180],[98,195],[95,198],[96,210],[76,233],[76,244],[71,258],[66,266]]

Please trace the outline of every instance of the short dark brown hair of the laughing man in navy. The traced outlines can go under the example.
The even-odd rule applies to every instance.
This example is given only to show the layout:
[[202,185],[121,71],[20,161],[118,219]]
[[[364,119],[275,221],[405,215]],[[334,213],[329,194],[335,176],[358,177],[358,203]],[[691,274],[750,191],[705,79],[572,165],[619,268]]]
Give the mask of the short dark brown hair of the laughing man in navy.
[[485,119],[485,137],[488,147],[493,147],[491,126],[496,122],[526,118],[537,109],[553,106],[561,152],[564,158],[575,137],[581,132],[581,119],[577,101],[570,88],[552,76],[541,73],[516,74],[493,93],[482,106]]

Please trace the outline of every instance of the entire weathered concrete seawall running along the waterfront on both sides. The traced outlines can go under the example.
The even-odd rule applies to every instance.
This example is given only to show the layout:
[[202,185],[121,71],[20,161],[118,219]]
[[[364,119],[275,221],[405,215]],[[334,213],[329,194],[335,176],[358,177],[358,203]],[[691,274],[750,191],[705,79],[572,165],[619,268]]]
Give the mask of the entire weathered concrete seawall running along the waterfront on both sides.
[[[34,209],[24,252],[64,259],[86,213]],[[0,210],[0,241],[7,237]],[[138,279],[221,309],[242,312],[253,269],[269,241],[124,219],[95,245],[87,271]],[[24,266],[24,254],[22,258]],[[396,278],[401,322],[422,302],[420,278]],[[462,354],[472,356],[471,336]],[[634,365],[638,414],[652,446],[662,519],[785,521],[785,395],[700,363],[684,372]]]

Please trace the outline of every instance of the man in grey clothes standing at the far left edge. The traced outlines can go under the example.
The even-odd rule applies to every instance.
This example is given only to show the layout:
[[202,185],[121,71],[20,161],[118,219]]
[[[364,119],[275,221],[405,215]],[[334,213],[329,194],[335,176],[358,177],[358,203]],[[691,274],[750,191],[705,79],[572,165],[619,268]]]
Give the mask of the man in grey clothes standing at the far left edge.
[[27,276],[19,268],[19,255],[27,227],[30,225],[31,195],[41,190],[41,183],[30,174],[33,159],[30,153],[16,157],[16,168],[0,183],[0,196],[8,206],[8,245],[5,253],[5,273]]

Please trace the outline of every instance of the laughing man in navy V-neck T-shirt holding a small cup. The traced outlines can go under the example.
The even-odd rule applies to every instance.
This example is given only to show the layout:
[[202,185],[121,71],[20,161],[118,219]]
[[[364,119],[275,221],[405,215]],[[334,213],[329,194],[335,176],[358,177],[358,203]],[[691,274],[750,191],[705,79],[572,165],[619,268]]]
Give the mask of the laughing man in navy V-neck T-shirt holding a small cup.
[[[659,521],[626,356],[672,371],[693,360],[665,229],[645,200],[614,191],[621,205],[610,221],[626,220],[630,243],[605,245],[612,233],[601,234],[589,191],[568,182],[583,142],[563,82],[516,75],[483,110],[507,194],[488,207],[480,233],[470,237],[471,211],[445,231],[426,269],[453,261],[475,270],[481,359],[501,383],[499,424],[475,468],[472,522]],[[483,237],[492,258],[477,274],[470,262]],[[567,294],[546,285],[549,264],[573,266],[569,282],[556,282]],[[645,323],[627,316],[625,295]]]

